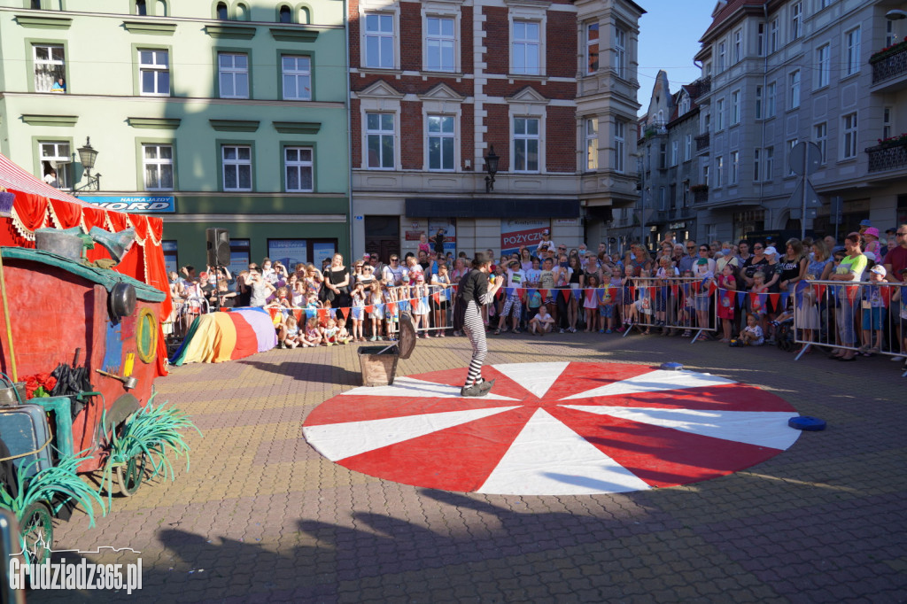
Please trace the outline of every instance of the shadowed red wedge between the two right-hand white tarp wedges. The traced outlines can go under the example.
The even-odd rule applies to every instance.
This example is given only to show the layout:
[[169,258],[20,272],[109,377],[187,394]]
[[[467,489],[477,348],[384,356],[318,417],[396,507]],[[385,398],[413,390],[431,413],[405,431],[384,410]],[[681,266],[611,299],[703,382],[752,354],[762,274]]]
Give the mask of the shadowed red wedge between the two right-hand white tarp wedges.
[[596,396],[561,401],[560,404],[590,406],[653,407],[696,411],[779,411],[796,413],[783,398],[746,384],[704,386],[633,395]]

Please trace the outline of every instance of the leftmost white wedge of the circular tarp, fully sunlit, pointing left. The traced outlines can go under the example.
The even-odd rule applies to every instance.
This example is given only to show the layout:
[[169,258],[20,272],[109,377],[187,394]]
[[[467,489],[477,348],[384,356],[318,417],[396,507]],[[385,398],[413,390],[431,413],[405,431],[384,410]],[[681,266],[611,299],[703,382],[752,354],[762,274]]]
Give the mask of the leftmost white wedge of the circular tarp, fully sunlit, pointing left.
[[374,451],[390,444],[402,443],[425,434],[432,434],[454,425],[467,424],[483,417],[516,409],[466,409],[440,414],[405,415],[344,424],[304,426],[302,434],[308,443],[332,462],[359,453]]

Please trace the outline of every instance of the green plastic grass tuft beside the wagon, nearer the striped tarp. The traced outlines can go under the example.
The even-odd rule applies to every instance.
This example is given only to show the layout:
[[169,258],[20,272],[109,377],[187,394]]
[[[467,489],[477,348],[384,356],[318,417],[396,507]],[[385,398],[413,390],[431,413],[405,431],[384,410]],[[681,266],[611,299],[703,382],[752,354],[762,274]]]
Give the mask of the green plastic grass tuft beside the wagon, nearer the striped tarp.
[[[182,453],[186,454],[186,471],[189,471],[190,447],[183,440],[181,431],[192,429],[201,434],[189,416],[178,409],[167,407],[164,402],[154,406],[154,397],[151,398],[139,411],[126,418],[122,428],[117,434],[112,431],[112,439],[106,443],[108,450],[107,463],[101,477],[101,485],[112,484],[113,468],[117,465],[128,463],[132,457],[144,455],[151,465],[151,477],[163,473],[164,479],[175,478],[173,464],[168,456],[168,449],[175,453],[179,459]],[[106,412],[102,416],[102,425],[105,425]],[[107,499],[110,502],[111,489],[107,490]]]

